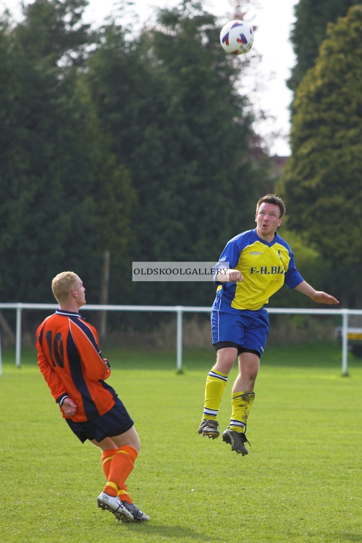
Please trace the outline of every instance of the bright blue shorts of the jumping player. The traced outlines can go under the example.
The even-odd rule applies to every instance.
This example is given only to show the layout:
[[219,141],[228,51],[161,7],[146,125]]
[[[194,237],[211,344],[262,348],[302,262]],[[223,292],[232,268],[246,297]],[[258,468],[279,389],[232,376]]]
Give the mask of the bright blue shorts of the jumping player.
[[235,309],[217,296],[211,310],[211,330],[213,345],[233,343],[239,352],[256,351],[262,356],[269,334],[268,311],[264,307]]

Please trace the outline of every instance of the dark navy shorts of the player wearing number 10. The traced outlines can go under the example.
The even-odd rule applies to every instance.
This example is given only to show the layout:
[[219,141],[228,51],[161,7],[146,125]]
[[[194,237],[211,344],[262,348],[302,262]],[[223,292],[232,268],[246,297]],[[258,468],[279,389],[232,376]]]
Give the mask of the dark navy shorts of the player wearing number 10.
[[101,441],[114,435],[124,434],[134,425],[123,403],[117,397],[115,405],[104,415],[96,416],[84,422],[65,419],[72,432],[84,443],[87,439]]

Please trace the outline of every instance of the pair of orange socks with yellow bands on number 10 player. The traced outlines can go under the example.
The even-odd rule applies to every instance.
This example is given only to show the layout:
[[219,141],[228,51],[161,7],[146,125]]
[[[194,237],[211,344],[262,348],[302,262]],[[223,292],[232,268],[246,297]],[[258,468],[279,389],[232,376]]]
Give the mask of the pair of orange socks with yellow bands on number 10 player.
[[[110,451],[116,451],[113,455],[109,472],[107,476],[107,484],[104,487],[104,492],[109,496],[119,496],[120,500],[124,500],[128,503],[132,503],[130,496],[127,493],[126,479],[131,473],[135,465],[135,460],[137,458],[137,451],[130,445],[122,445],[118,449],[111,449]],[[104,451],[104,457],[109,451]],[[102,459],[103,459],[102,454]],[[107,460],[103,463],[103,466],[107,464]],[[106,468],[107,469],[107,468]],[[104,468],[104,472],[106,473]]]

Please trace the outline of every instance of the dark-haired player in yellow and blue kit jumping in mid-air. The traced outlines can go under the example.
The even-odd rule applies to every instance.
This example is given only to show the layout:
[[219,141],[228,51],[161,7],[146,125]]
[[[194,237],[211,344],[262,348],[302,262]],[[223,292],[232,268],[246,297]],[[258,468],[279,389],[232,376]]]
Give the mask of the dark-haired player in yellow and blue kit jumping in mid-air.
[[[276,230],[285,213],[283,200],[266,194],[256,207],[256,228],[240,233],[226,245],[217,264],[218,285],[211,311],[213,345],[217,361],[206,379],[204,413],[198,433],[216,439],[217,415],[227,377],[238,358],[239,375],[231,394],[230,424],[223,441],[243,456],[246,421],[255,397],[254,385],[269,333],[264,308],[284,284],[306,294],[317,304],[339,304],[330,294],[315,291],[295,267],[294,255]],[[249,443],[249,442],[248,442]]]

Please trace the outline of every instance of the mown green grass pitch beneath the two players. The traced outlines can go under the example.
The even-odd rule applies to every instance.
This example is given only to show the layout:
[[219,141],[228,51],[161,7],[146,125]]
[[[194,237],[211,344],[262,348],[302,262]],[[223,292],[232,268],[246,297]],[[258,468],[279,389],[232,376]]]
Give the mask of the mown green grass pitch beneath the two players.
[[[335,345],[267,349],[248,422],[247,457],[196,434],[213,351],[103,348],[110,384],[142,442],[129,491],[146,524],[97,508],[100,453],[81,445],[37,369],[34,351],[3,357],[0,462],[3,543],[306,543],[362,541],[362,361],[341,376]],[[233,370],[219,412],[230,418]]]

